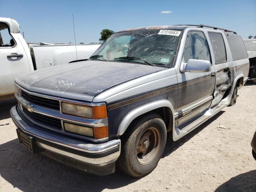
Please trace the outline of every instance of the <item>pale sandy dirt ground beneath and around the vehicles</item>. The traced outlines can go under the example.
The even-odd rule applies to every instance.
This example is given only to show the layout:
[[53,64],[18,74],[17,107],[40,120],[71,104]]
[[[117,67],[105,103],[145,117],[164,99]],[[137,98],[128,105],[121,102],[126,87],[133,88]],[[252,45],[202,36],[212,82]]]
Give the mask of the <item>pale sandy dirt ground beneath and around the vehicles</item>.
[[226,107],[202,126],[166,144],[156,169],[143,178],[119,170],[90,175],[31,154],[18,143],[9,109],[0,109],[0,191],[193,191],[256,192],[256,161],[250,142],[256,131],[256,85],[238,92]]

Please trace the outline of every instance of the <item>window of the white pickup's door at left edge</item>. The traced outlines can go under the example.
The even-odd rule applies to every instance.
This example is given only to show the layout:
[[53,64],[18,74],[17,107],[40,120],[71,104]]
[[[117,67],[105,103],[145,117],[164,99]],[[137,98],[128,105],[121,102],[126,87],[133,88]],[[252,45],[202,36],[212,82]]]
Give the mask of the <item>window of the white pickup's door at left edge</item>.
[[8,26],[4,23],[0,23],[0,47],[12,47],[14,46],[14,40],[10,36]]

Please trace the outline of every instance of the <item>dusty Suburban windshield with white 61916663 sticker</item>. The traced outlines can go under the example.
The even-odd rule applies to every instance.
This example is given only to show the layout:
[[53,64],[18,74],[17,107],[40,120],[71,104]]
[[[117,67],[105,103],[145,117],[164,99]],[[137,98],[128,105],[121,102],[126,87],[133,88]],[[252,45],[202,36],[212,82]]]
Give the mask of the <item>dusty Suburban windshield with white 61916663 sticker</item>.
[[178,30],[118,32],[110,36],[90,60],[172,67],[180,33]]

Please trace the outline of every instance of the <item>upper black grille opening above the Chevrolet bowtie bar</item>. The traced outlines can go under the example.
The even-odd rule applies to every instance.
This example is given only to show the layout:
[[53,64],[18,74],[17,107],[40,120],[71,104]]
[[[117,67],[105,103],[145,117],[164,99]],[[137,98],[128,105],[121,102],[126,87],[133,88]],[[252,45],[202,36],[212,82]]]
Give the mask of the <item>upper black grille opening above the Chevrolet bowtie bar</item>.
[[33,104],[37,104],[37,105],[55,109],[55,110],[60,110],[60,102],[58,100],[53,100],[53,99],[48,99],[48,98],[28,94],[23,90],[21,91],[21,96]]

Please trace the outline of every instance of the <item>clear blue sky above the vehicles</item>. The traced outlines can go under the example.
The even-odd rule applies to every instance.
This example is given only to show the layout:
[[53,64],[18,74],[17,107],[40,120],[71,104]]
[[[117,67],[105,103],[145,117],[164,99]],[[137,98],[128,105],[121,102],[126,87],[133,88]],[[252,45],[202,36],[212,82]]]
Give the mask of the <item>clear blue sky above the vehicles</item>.
[[[166,11],[168,13],[161,13]],[[100,32],[139,26],[207,24],[256,35],[256,0],[0,0],[28,42],[99,42]]]

